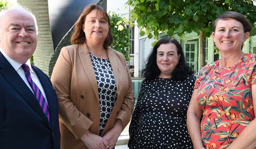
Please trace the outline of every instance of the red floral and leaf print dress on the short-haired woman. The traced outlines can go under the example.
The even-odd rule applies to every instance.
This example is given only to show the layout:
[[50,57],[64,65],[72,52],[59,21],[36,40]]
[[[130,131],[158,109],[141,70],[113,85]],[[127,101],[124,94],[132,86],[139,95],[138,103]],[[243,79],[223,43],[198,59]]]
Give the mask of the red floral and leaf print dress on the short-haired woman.
[[201,135],[206,149],[225,149],[255,118],[251,86],[256,84],[256,54],[244,54],[233,67],[219,60],[204,66],[194,89],[203,110]]

